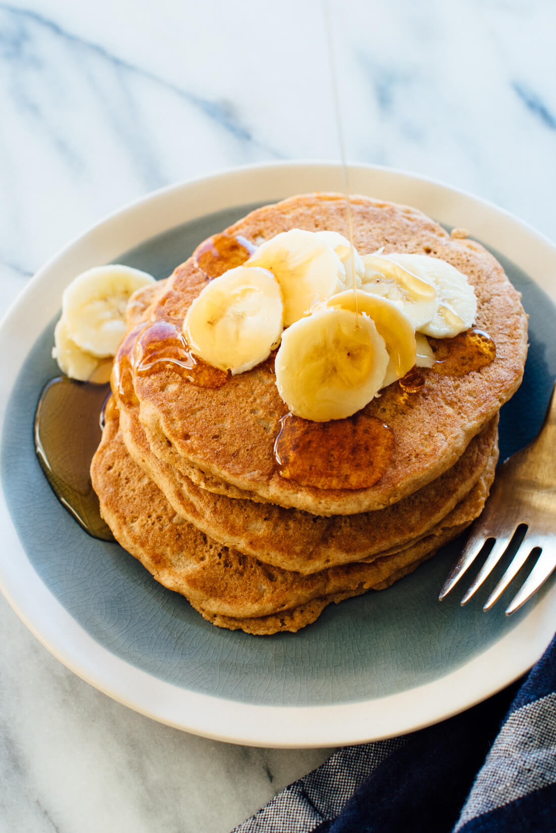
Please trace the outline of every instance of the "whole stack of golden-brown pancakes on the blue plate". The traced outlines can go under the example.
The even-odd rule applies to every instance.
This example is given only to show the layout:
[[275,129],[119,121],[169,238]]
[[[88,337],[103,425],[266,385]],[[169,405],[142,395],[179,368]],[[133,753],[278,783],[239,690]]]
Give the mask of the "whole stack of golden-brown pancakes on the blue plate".
[[[424,253],[468,276],[476,326],[496,357],[458,376],[423,370],[414,393],[398,382],[383,389],[363,413],[393,431],[388,468],[373,486],[341,490],[282,476],[274,442],[288,407],[272,358],[222,387],[198,387],[168,362],[148,374],[127,366],[133,395],[113,383],[91,470],[103,517],[157,581],[218,626],[298,631],[332,601],[388,587],[478,516],[493,481],[498,410],[517,389],[527,352],[518,292],[483,247],[413,208],[351,197],[351,210],[359,253]],[[290,228],[348,235],[345,198],[292,197],[225,233],[258,244]],[[183,320],[207,281],[193,256],[133,297],[113,379],[137,325]]]

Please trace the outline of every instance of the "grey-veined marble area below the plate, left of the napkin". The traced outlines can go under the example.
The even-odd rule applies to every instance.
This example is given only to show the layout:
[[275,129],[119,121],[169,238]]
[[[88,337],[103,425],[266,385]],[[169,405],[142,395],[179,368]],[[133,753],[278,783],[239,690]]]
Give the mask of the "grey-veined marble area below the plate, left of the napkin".
[[0,602],[1,831],[227,831],[327,751],[161,726],[74,676]]

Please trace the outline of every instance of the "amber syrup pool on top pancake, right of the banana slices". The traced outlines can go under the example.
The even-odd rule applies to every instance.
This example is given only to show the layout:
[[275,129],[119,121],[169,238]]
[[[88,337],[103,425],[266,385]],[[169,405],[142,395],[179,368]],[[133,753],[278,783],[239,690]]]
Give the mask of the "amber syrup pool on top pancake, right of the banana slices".
[[488,332],[472,327],[453,338],[428,338],[434,353],[433,371],[445,376],[465,376],[486,367],[496,357],[496,345]]

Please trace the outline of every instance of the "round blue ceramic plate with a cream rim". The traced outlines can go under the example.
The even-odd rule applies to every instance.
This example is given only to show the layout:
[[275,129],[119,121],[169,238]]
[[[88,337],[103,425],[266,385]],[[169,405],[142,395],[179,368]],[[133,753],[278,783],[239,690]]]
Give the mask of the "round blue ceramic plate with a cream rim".
[[[538,431],[556,375],[556,310],[547,291],[556,293],[542,285],[543,275],[556,272],[555,250],[512,217],[447,187],[370,167],[353,168],[351,182],[353,191],[467,227],[523,292],[528,362],[500,423],[502,459],[517,451]],[[223,631],[153,581],[118,544],[87,536],[43,477],[33,416],[43,385],[57,375],[53,326],[73,275],[114,261],[167,277],[198,242],[254,205],[339,187],[336,165],[287,164],[157,192],[44,267],[0,328],[0,341],[12,352],[15,342],[18,354],[15,370],[4,370],[2,392],[6,595],[41,641],[94,686],[160,721],[223,740],[332,746],[410,731],[515,679],[553,633],[553,582],[511,619],[503,604],[482,611],[495,578],[465,608],[457,592],[439,604],[458,542],[388,592],[329,606],[298,634]]]

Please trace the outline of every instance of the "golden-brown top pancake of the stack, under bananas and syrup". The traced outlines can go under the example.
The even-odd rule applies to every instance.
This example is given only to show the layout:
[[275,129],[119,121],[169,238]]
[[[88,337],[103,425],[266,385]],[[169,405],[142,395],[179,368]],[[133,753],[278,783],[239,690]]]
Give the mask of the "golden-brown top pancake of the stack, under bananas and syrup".
[[[527,322],[516,292],[500,264],[478,243],[453,239],[423,213],[368,197],[351,197],[353,242],[365,254],[417,252],[440,257],[468,276],[477,299],[476,326],[496,345],[494,361],[462,377],[425,371],[426,384],[416,394],[397,383],[369,402],[364,412],[393,430],[393,457],[387,471],[370,488],[321,490],[300,486],[279,475],[273,444],[279,419],[288,407],[278,396],[271,362],[228,377],[223,387],[195,387],[172,370],[155,367],[148,377],[133,378],[140,419],[157,453],[175,465],[203,472],[201,485],[220,491],[218,483],[247,496],[293,506],[317,515],[352,514],[380,509],[400,500],[446,471],[472,437],[517,389],[527,352]],[[260,208],[226,230],[253,242],[290,228],[329,229],[348,235],[344,197],[312,194]],[[183,318],[207,278],[190,258],[168,280],[149,316]],[[118,361],[118,358],[117,358]],[[172,459],[170,459],[172,456]],[[236,496],[239,496],[238,492]],[[233,491],[230,492],[233,496]]]

